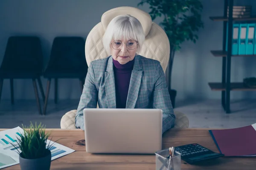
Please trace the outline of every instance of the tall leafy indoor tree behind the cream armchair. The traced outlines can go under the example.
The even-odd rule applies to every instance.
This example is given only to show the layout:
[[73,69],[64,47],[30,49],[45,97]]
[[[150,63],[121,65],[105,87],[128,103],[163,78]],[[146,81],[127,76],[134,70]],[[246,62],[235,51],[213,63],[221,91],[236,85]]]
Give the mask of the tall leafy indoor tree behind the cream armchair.
[[186,40],[194,43],[198,40],[196,33],[204,28],[201,20],[203,5],[201,0],[141,0],[137,6],[149,4],[152,20],[163,17],[160,26],[166,32],[170,42],[170,59],[167,71],[167,84],[172,105],[175,107],[176,90],[171,88],[172,65],[175,51],[180,50],[180,44]]

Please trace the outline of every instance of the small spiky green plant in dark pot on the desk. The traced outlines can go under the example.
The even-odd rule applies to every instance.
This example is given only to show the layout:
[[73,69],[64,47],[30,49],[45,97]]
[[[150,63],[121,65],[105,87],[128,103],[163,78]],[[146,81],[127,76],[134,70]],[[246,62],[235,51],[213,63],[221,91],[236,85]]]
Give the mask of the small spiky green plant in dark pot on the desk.
[[49,133],[45,133],[41,123],[38,126],[35,123],[35,127],[31,123],[30,127],[23,127],[23,130],[24,133],[17,138],[20,169],[49,170],[52,158],[49,150],[52,144],[47,144]]

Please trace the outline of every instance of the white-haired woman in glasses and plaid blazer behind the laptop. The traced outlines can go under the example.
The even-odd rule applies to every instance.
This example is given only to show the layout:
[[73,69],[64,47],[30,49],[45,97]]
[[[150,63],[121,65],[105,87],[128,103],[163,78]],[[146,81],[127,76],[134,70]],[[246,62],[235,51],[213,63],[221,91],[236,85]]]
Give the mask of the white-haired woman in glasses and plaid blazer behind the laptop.
[[138,55],[145,35],[131,15],[109,23],[103,45],[111,56],[90,62],[76,113],[76,127],[84,130],[84,108],[157,108],[163,111],[162,133],[175,122],[160,62]]

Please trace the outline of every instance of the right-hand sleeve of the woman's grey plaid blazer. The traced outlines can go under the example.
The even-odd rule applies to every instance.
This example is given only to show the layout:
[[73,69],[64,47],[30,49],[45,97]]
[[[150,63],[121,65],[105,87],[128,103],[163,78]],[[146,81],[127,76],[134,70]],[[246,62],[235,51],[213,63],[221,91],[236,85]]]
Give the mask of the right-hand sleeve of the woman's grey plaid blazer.
[[163,111],[163,134],[166,130],[174,127],[175,114],[173,112],[172,102],[166,84],[166,77],[160,62],[157,64],[154,82],[153,108],[162,109]]

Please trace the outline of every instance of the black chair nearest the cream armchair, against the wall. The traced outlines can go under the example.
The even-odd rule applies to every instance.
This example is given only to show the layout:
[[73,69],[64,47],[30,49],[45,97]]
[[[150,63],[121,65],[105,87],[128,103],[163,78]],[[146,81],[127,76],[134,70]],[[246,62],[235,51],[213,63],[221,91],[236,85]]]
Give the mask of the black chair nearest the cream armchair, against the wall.
[[48,80],[43,114],[46,114],[51,79],[55,79],[55,104],[58,98],[59,78],[77,78],[80,82],[81,91],[83,90],[88,69],[84,45],[85,40],[82,37],[55,37],[53,40],[50,60],[44,71],[44,78]]

